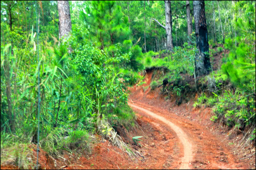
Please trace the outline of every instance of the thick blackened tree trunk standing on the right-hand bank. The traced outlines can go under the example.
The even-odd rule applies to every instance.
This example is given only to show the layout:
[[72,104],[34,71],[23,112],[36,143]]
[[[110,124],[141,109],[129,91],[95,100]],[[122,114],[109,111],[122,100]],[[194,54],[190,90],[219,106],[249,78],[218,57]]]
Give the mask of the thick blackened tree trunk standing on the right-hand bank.
[[204,11],[204,1],[193,1],[196,46],[198,53],[195,58],[195,74],[201,76],[208,72],[210,68],[210,58],[204,52],[209,52],[208,32]]

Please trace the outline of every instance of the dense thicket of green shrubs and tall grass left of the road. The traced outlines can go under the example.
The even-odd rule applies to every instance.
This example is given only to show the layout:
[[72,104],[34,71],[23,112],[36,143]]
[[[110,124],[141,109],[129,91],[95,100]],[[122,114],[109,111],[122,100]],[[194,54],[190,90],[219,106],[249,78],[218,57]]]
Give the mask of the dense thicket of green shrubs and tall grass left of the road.
[[[113,110],[119,106],[128,107],[126,105],[128,94],[124,90],[125,82],[122,83],[125,71],[121,69],[117,72],[112,62],[114,61],[117,65],[127,63],[129,56],[120,52],[119,49],[116,51],[117,57],[113,60],[107,53],[95,48],[92,42],[87,41],[86,31],[77,29],[72,33],[67,44],[60,44],[59,47],[52,47],[47,42],[41,43],[40,145],[52,155],[60,155],[62,150],[88,151],[90,142],[88,131],[96,132],[97,116],[102,113],[112,115]],[[33,31],[31,35],[34,35]],[[11,91],[16,90],[16,93],[12,93],[11,96],[15,99],[14,111],[15,122],[17,122],[15,133],[22,142],[28,142],[37,132],[35,101],[38,98],[38,68],[33,36],[30,37],[32,37],[30,38],[32,43],[29,42],[26,47],[19,47],[19,50],[15,49],[13,56],[11,50],[8,50],[12,59],[10,60],[11,84],[15,84],[11,86]],[[1,54],[10,47],[11,44],[1,46]],[[4,48],[6,50],[3,50]],[[72,49],[71,53],[68,52],[69,49]],[[2,58],[1,63],[3,63]],[[1,67],[1,73],[2,71],[4,70]],[[133,72],[129,72],[128,75],[134,76],[134,82],[143,77]],[[4,74],[1,74],[2,78],[6,80]],[[1,87],[2,82],[5,81],[1,81]],[[19,86],[18,91],[16,86]],[[1,96],[5,95],[6,92],[1,94]],[[7,101],[4,97],[1,100],[1,130],[9,129],[7,111]],[[116,115],[117,123],[123,123],[127,127],[133,125],[134,113],[126,111],[124,114]],[[53,128],[55,124],[56,128]],[[63,136],[66,132],[69,134],[67,138]],[[10,136],[7,139],[10,140]],[[4,141],[1,142],[7,147]]]

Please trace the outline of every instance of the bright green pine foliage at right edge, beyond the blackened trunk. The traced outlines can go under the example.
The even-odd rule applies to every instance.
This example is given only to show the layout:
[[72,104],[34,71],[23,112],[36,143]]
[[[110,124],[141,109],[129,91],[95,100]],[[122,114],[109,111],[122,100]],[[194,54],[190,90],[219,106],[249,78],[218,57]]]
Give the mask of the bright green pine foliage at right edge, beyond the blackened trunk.
[[[225,40],[225,48],[230,50],[228,62],[222,65],[222,71],[231,82],[245,92],[255,95],[255,2],[237,2],[234,9],[245,11],[235,18],[235,29],[239,36]],[[237,42],[237,46],[234,45]]]

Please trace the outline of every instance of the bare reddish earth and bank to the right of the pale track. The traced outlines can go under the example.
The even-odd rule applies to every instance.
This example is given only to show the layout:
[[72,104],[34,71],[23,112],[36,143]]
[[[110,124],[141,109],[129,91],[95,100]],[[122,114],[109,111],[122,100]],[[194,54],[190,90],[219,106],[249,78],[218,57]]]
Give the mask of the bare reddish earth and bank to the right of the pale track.
[[[147,78],[147,80],[150,80],[150,78]],[[189,168],[255,169],[255,154],[249,157],[255,152],[255,145],[247,146],[245,149],[239,148],[236,153],[233,152],[235,145],[243,137],[242,134],[233,133],[229,135],[232,129],[228,129],[224,124],[210,121],[213,115],[210,108],[194,109],[193,102],[176,106],[175,99],[170,97],[171,99],[166,101],[160,90],[160,88],[157,88],[151,91],[149,88],[145,93],[142,93],[143,89],[141,88],[131,89],[130,103],[157,114],[184,131],[192,144],[193,151]],[[137,112],[138,108],[134,111]],[[139,113],[142,114],[141,112],[145,112],[145,110],[140,110]],[[145,113],[143,115],[150,117]],[[154,119],[154,122],[167,126],[167,123],[159,119]],[[180,151],[179,155],[186,156],[181,140],[179,138],[177,146],[180,148],[177,150]]]

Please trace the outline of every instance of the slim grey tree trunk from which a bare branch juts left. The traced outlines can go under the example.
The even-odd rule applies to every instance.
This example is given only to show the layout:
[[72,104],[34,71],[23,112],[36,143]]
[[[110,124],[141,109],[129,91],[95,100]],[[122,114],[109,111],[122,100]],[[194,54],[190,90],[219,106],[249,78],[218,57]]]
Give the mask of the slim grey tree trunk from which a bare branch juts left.
[[171,27],[171,1],[165,1],[165,21],[166,21],[166,34],[167,34],[167,48],[173,49],[172,27]]

